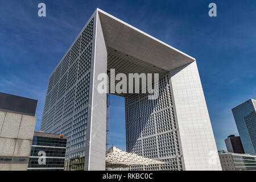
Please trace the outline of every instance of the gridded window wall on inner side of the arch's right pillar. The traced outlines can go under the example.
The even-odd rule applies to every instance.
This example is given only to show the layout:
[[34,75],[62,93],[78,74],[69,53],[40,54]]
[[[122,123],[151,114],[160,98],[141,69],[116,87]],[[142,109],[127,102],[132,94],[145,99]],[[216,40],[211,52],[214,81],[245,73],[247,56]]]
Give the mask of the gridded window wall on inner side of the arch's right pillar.
[[163,165],[131,166],[131,170],[182,170],[177,125],[168,75],[159,80],[159,97],[133,94],[126,102],[126,148]]

